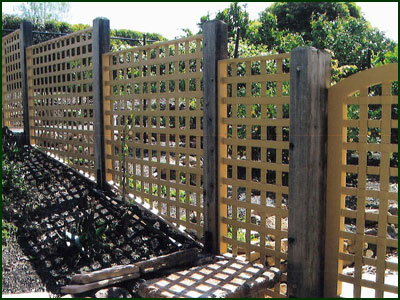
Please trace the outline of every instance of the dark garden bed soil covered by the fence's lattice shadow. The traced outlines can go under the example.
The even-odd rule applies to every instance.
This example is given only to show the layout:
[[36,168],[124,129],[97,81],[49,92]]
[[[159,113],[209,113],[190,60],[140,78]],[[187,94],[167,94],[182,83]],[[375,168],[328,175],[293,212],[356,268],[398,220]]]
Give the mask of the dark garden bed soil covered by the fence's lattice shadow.
[[[3,219],[18,228],[15,240],[4,243],[3,237],[3,294],[47,291],[60,296],[74,274],[196,245],[149,211],[112,191],[98,191],[93,182],[37,149],[13,151],[14,142],[3,131],[3,151],[12,156],[11,168],[26,183],[26,193],[21,187],[3,190]],[[101,234],[95,235],[96,230]],[[82,239],[83,250],[68,240],[68,233],[90,237]],[[119,286],[137,296],[134,281]]]

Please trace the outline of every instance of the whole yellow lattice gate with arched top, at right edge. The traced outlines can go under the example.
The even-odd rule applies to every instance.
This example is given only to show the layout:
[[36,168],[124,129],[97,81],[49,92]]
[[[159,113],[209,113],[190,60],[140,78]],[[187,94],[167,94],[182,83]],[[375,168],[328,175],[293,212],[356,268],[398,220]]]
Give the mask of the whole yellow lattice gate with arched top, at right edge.
[[397,73],[397,64],[364,71],[329,94],[335,106],[329,118],[337,118],[329,125],[328,215],[334,219],[327,227],[338,229],[329,240],[338,248],[327,255],[338,264],[337,295],[398,294]]

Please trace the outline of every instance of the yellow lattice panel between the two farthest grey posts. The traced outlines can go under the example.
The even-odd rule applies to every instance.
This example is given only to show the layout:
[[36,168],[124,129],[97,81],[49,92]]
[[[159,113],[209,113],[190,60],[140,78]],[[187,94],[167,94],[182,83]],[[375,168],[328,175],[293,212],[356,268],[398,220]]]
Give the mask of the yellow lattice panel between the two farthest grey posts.
[[92,29],[27,48],[31,144],[94,178]]

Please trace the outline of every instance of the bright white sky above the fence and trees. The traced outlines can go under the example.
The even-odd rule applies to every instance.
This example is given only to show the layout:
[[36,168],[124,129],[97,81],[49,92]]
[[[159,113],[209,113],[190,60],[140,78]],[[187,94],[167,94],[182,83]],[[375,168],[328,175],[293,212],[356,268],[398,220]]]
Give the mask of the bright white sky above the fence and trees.
[[[200,17],[229,7],[230,2],[70,2],[70,24],[92,24],[96,17],[110,20],[112,29],[130,29],[159,33],[168,39],[184,35],[182,28],[198,32]],[[240,2],[247,4],[250,19],[273,2]],[[364,17],[387,37],[398,41],[398,2],[356,2]],[[2,2],[3,13],[16,13],[18,2]]]

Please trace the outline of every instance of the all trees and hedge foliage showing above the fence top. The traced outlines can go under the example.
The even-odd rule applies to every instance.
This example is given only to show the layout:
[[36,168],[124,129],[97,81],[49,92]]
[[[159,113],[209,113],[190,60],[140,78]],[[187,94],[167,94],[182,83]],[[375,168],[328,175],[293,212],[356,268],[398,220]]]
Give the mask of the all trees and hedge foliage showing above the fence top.
[[[47,6],[34,2],[22,2],[21,15],[2,14],[2,28],[18,29],[23,18],[33,22],[35,31],[71,33],[90,27],[86,24],[68,24],[60,21],[59,15],[68,14],[68,6]],[[37,16],[41,16],[40,19]],[[275,2],[258,18],[251,20],[246,4],[227,3],[227,8],[218,11],[215,19],[228,25],[229,55],[235,52],[235,39],[239,32],[239,57],[290,52],[296,47],[313,46],[332,53],[332,83],[358,71],[397,62],[397,43],[365,20],[355,2]],[[198,26],[211,20],[210,14],[200,18]],[[183,36],[197,33],[182,28]],[[3,35],[7,34],[3,31]],[[146,40],[166,40],[157,33],[143,33],[128,29],[111,30],[112,37],[123,37],[133,41],[111,39],[112,50],[138,46]],[[34,35],[34,43],[56,36]]]

